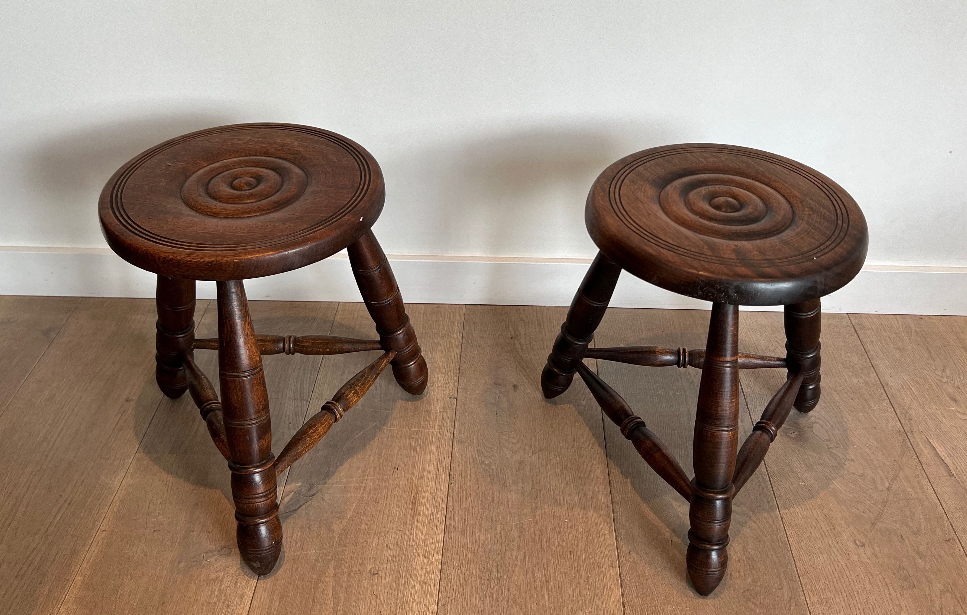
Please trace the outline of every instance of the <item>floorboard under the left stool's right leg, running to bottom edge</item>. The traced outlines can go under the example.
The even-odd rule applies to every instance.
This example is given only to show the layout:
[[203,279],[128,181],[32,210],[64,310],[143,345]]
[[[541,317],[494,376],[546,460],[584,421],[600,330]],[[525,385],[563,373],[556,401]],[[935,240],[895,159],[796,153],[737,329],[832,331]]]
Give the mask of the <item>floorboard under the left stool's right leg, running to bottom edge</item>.
[[[433,613],[454,429],[462,306],[407,306],[429,384],[415,397],[387,369],[289,471],[279,569],[250,613]],[[334,335],[375,337],[362,304],[341,304]],[[378,352],[327,357],[315,412]]]

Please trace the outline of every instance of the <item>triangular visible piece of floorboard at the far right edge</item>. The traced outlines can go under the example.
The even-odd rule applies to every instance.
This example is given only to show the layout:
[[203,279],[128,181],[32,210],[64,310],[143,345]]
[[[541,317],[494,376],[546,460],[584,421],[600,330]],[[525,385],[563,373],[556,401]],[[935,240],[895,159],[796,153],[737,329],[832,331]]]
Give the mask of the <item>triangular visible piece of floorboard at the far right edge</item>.
[[866,352],[967,544],[967,317],[851,314]]

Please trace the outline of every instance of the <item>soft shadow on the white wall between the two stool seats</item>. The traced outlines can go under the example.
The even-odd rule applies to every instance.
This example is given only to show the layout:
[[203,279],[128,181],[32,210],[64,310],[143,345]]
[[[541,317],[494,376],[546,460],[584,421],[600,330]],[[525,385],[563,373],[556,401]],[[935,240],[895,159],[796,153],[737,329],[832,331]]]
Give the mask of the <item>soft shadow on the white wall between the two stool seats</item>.
[[[404,253],[586,256],[594,246],[584,202],[595,178],[667,138],[660,127],[586,120],[423,147],[417,140],[383,163],[388,205],[380,236]],[[413,217],[421,227],[401,230]]]

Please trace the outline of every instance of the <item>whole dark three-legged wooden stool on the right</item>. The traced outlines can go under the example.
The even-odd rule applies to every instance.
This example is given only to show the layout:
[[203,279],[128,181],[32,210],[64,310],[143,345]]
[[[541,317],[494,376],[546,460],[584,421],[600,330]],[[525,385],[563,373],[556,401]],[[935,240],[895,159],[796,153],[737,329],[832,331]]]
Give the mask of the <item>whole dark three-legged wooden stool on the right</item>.
[[[728,563],[732,500],[776,439],[790,409],[819,401],[819,298],[859,273],[866,221],[856,202],[804,164],[743,147],[659,147],[615,162],[588,195],[585,220],[601,250],[571,302],[541,375],[545,397],[575,371],[659,476],[690,503],[689,578],[699,594]],[[712,302],[705,350],[589,348],[621,270]],[[784,306],[785,357],[739,352],[739,306]],[[702,369],[692,451],[695,478],[624,399],[582,360]],[[785,384],[742,449],[739,369],[786,367]]]

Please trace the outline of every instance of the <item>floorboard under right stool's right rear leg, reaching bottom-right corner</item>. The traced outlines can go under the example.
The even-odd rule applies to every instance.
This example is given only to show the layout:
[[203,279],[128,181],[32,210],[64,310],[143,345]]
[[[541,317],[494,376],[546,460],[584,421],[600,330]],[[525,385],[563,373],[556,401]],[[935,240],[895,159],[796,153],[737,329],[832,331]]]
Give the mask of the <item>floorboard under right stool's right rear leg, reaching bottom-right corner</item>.
[[[775,354],[781,314],[744,311],[739,333]],[[822,399],[793,412],[765,461],[811,613],[964,612],[967,558],[849,316],[824,314],[822,344]],[[749,405],[784,377],[743,371]]]

